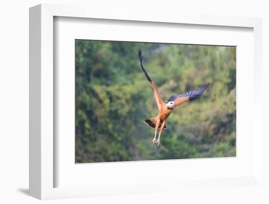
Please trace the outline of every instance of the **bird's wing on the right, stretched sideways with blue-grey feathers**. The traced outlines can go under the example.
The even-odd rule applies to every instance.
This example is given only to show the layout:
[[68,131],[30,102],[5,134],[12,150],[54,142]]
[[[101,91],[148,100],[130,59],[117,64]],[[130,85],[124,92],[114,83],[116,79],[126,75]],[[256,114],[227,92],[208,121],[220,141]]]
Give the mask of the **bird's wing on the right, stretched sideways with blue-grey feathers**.
[[209,86],[209,83],[206,83],[200,86],[198,89],[191,90],[183,94],[171,96],[167,101],[169,102],[174,101],[175,102],[174,108],[175,108],[182,102],[193,101],[201,97],[203,92],[205,91],[205,89],[207,89],[208,86]]

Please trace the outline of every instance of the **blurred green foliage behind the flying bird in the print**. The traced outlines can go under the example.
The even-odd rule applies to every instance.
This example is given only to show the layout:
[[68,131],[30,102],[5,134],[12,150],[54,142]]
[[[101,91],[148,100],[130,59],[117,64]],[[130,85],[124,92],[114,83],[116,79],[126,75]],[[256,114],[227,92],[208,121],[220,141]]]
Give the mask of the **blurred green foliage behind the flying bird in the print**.
[[[157,149],[153,90],[164,102],[209,82],[201,98],[169,116]],[[223,157],[236,155],[236,48],[112,41],[75,41],[76,162]]]

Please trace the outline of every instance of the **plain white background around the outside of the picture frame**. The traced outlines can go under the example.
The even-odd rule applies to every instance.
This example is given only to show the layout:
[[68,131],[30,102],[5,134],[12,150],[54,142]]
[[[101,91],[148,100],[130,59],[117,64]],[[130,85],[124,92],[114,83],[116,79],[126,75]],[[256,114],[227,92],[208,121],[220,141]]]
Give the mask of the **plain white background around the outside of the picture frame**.
[[[39,3],[80,4],[111,9],[134,9],[137,13],[169,12],[206,13],[215,15],[249,16],[263,18],[263,89],[264,89],[264,127],[269,119],[268,82],[269,74],[269,6],[261,0],[195,0],[195,1],[102,1],[97,0],[9,0],[0,4],[0,203],[39,203],[28,197],[28,8]],[[267,131],[268,130],[264,130]],[[265,138],[264,144],[269,144]],[[267,147],[264,145],[264,147]],[[266,172],[264,179],[269,183],[269,148],[264,148]],[[267,162],[266,162],[267,160]],[[195,191],[175,194],[175,192],[96,197],[45,201],[46,203],[269,203],[269,189],[261,192],[257,188],[242,188],[233,191],[229,188]]]

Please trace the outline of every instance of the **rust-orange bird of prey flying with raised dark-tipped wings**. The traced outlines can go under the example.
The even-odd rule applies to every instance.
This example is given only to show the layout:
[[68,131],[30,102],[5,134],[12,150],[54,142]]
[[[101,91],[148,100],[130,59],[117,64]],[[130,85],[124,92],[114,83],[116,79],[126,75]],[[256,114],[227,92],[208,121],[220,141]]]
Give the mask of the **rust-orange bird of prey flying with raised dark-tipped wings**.
[[[155,83],[151,80],[147,71],[143,67],[143,64],[142,64],[143,56],[142,56],[142,51],[140,51],[140,50],[138,51],[138,58],[140,60],[141,68],[142,68],[146,78],[149,80],[149,82],[152,85],[152,88],[154,90],[155,103],[156,103],[156,106],[157,106],[158,111],[159,111],[157,117],[146,119],[146,120],[144,120],[144,122],[149,127],[155,128],[155,135],[154,135],[154,138],[152,140],[152,144],[157,145],[157,147],[159,147],[161,132],[162,132],[163,128],[166,128],[165,123],[166,123],[168,116],[172,112],[172,110],[175,107],[177,107],[178,105],[180,105],[182,102],[193,101],[193,100],[201,97],[204,90],[207,89],[209,83],[206,83],[206,84],[200,86],[198,89],[191,90],[191,91],[185,92],[183,94],[171,96],[167,100],[168,102],[163,102],[161,97],[160,97],[160,94],[157,90]],[[157,135],[157,131],[159,128],[160,128],[159,135],[158,135],[158,139],[156,140],[156,135]]]

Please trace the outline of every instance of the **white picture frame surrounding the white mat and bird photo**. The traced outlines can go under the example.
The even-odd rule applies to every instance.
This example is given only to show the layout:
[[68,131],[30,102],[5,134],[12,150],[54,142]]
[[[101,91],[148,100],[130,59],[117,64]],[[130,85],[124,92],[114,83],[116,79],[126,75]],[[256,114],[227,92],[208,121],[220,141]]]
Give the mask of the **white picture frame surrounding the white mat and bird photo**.
[[[203,180],[185,180],[178,182],[162,180],[156,187],[154,182],[133,183],[130,186],[115,186],[108,183],[101,185],[55,187],[54,179],[58,177],[54,171],[54,133],[53,112],[55,111],[53,98],[55,78],[53,75],[53,18],[78,17],[90,19],[110,19],[121,21],[162,22],[188,25],[236,26],[253,28],[254,33],[254,101],[253,125],[255,137],[253,140],[253,171],[244,177],[210,178]],[[64,6],[41,4],[30,8],[30,195],[38,199],[76,198],[95,195],[121,195],[130,193],[165,192],[184,188],[199,188],[199,186],[226,186],[234,188],[240,186],[262,186],[262,106],[261,100],[261,69],[262,69],[262,21],[259,18],[227,17],[227,16],[147,16],[132,13],[117,13],[107,10],[100,13],[97,10],[80,6]],[[242,86],[241,86],[242,87]],[[202,162],[202,160],[197,162]],[[156,164],[156,163],[155,163]],[[149,163],[148,165],[155,165]],[[123,164],[124,165],[124,164]],[[136,163],[138,165],[138,163]],[[169,187],[167,187],[169,186]]]

